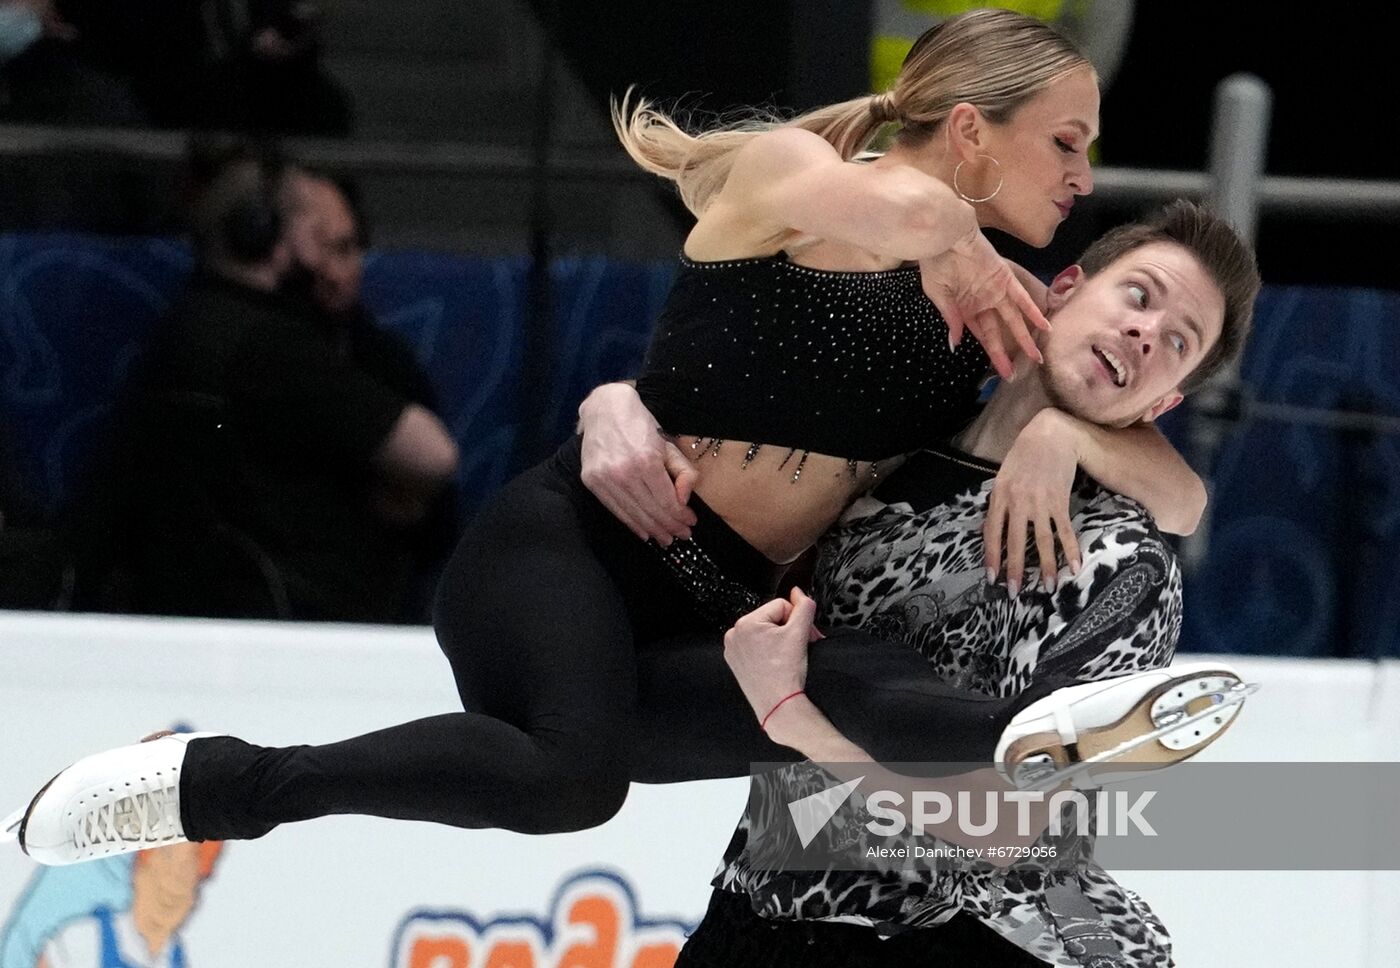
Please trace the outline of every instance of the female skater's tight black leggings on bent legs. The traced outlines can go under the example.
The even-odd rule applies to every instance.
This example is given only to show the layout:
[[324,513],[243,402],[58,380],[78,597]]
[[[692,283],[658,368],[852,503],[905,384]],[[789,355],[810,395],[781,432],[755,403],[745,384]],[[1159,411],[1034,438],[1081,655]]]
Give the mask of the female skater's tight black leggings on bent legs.
[[[694,545],[766,594],[771,566],[696,510]],[[728,594],[697,581],[701,595]],[[185,832],[251,839],[330,814],[574,831],[610,818],[633,779],[792,759],[757,728],[692,593],[582,488],[577,441],[566,445],[483,510],[444,574],[435,629],[468,712],[323,747],[196,740]],[[808,692],[879,759],[980,763],[1033,698],[959,695],[909,647],[857,633],[813,646]]]

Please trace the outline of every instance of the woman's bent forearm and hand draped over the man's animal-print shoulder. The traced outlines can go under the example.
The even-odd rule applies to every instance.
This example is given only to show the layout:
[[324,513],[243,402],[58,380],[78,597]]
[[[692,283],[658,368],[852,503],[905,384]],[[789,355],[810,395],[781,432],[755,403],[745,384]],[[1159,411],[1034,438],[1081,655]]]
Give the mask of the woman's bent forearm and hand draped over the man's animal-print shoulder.
[[998,576],[1005,566],[1012,594],[1021,588],[1025,573],[1028,531],[1035,534],[1042,580],[1049,587],[1058,572],[1056,541],[1070,569],[1078,572],[1079,545],[1070,525],[1070,492],[1079,468],[1109,490],[1147,507],[1169,534],[1191,534],[1205,510],[1205,485],[1156,427],[1109,429],[1044,409],[1026,424],[1002,461],[983,525],[988,573]]

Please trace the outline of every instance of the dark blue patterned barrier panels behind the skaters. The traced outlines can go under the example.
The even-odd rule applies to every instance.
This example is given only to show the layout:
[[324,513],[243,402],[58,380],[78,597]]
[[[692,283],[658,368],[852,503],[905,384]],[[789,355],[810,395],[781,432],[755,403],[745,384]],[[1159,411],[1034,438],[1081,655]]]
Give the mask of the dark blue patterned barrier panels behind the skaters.
[[[0,408],[25,480],[71,493],[143,336],[190,269],[164,238],[0,235]],[[549,385],[524,385],[529,263],[374,252],[365,300],[427,367],[462,448],[463,507],[518,469],[524,405],[554,440],[588,388],[630,374],[673,265],[560,259]],[[1243,375],[1260,401],[1400,413],[1400,293],[1266,289]],[[1186,422],[1168,419],[1184,441]],[[546,434],[549,436],[549,434]],[[1183,647],[1400,656],[1400,434],[1254,422],[1214,466],[1210,556],[1187,583]]]

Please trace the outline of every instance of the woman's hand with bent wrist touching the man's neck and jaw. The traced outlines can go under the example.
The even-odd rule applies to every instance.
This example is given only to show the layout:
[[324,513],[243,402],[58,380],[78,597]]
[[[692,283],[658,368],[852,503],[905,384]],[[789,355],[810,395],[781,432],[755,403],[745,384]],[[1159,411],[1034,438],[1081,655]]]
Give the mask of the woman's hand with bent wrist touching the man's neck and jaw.
[[1014,367],[1002,339],[1005,329],[1028,357],[1044,361],[1030,328],[1050,329],[1050,322],[981,231],[965,235],[941,255],[920,259],[918,269],[924,293],[948,322],[952,346],[963,331],[972,332],[991,366],[1009,380]]

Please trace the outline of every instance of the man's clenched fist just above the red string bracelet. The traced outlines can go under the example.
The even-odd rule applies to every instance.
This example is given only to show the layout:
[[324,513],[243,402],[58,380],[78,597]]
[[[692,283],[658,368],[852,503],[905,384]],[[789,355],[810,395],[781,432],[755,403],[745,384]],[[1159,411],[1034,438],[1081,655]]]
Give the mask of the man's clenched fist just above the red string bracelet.
[[816,602],[792,588],[734,623],[724,633],[724,661],[759,721],[806,686],[806,646],[815,637]]

